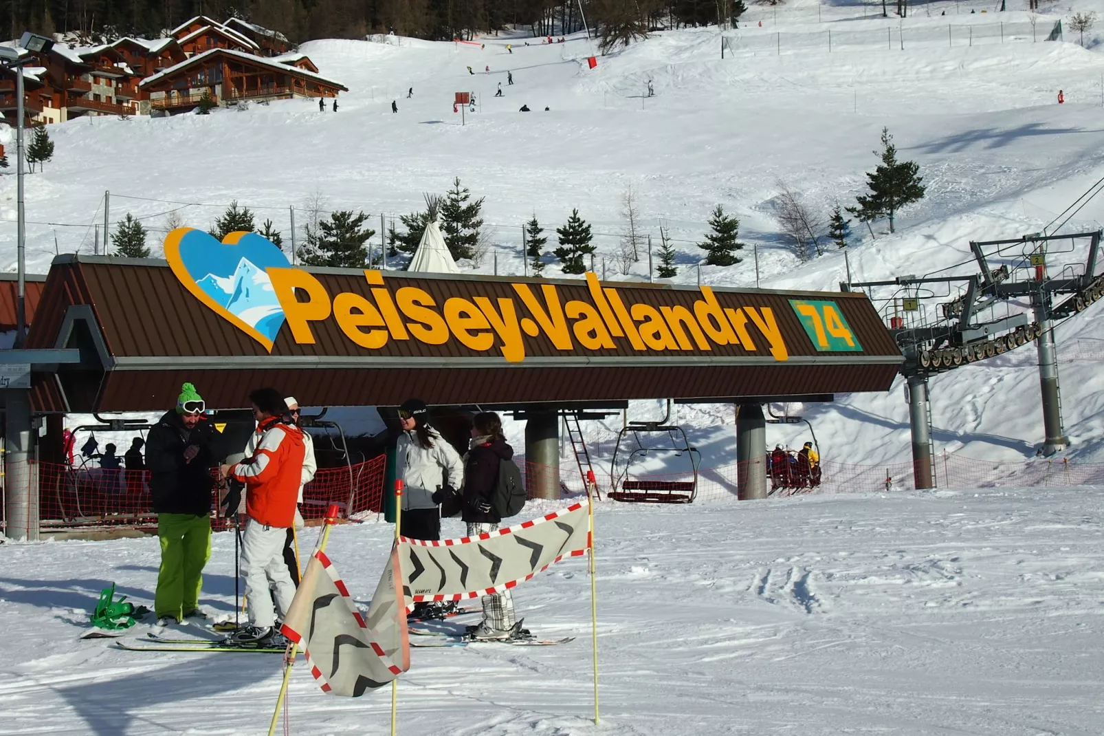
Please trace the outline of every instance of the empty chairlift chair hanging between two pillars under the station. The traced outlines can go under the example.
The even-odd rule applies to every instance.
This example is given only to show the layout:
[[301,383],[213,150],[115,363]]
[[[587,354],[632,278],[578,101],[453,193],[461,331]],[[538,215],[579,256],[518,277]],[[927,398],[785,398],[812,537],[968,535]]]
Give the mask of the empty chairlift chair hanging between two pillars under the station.
[[[668,414],[669,411],[668,409]],[[607,497],[626,502],[693,503],[698,495],[701,453],[697,448],[690,446],[681,427],[667,424],[667,420],[668,417],[664,417],[659,422],[629,422],[617,434],[617,444],[609,462],[611,491],[606,494]],[[657,445],[648,445],[641,440],[641,435],[666,438],[660,439]],[[646,460],[665,454],[682,458],[683,453],[690,461],[687,471],[690,480],[637,480],[631,476],[633,466]]]

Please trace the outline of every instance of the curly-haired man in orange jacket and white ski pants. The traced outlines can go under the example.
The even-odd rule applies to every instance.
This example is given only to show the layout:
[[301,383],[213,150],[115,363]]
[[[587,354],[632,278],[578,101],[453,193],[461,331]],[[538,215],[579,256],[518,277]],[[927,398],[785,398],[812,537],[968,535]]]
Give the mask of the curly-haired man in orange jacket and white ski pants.
[[[242,577],[250,624],[231,638],[282,646],[285,642],[276,628],[276,614],[283,618],[295,597],[295,583],[284,562],[284,543],[295,524],[306,445],[302,431],[287,416],[283,393],[273,388],[257,389],[250,395],[250,401],[257,420],[256,451],[240,463],[222,466],[224,477],[248,488]],[[278,611],[273,608],[274,597]]]

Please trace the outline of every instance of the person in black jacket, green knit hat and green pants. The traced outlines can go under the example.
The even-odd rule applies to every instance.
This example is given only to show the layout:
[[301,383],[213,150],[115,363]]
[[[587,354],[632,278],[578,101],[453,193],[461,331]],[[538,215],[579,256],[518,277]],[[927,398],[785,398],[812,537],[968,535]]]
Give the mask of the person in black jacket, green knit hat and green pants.
[[191,383],[180,389],[171,409],[149,431],[146,466],[161,540],[153,610],[158,624],[203,618],[200,588],[211,558],[211,494],[215,459],[212,428],[203,399]]

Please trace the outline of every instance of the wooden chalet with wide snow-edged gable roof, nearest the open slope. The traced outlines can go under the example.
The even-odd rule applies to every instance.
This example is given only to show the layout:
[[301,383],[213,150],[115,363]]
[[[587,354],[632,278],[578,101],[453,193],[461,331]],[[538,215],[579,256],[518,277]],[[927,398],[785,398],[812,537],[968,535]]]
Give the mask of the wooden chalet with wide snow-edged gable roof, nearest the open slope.
[[336,97],[348,87],[318,74],[306,56],[286,63],[232,49],[211,49],[142,81],[151,114],[194,109],[204,94],[219,105],[242,101]]

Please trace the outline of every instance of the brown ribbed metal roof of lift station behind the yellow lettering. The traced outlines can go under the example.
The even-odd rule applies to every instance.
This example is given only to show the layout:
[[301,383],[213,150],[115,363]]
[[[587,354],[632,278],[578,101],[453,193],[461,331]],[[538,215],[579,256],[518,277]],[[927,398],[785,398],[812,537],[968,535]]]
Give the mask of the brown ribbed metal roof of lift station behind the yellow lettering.
[[[369,296],[363,272],[309,271],[331,298],[341,292]],[[592,302],[582,280],[385,274],[392,295],[415,286],[438,306],[450,297],[486,296],[496,304],[497,298],[512,298],[518,316],[529,316],[516,283],[528,284],[538,298],[542,284],[554,284],[563,305]],[[616,287],[626,306],[681,305],[692,311],[702,298],[694,287],[603,286]],[[311,406],[393,406],[415,395],[433,403],[705,399],[884,390],[892,382],[901,354],[866,296],[713,291],[722,307],[769,307],[789,359],[774,360],[763,336],[751,326],[756,350],[711,344],[709,350],[694,345],[677,351],[640,351],[627,338],[615,339],[613,348],[587,350],[576,338],[574,349],[565,351],[542,332],[526,335],[524,360],[510,364],[497,347],[478,351],[458,339],[443,345],[389,339],[369,350],[350,340],[333,318],[311,323],[314,345],[297,344],[285,324],[269,354],[197,299],[164,262],[94,256],[55,260],[28,347],[82,347],[93,357],[98,347],[104,364],[98,372],[84,366],[61,375],[73,411],[159,409],[171,403],[185,380],[195,383],[210,404],[224,408],[244,406],[248,391],[261,385],[277,386]],[[790,308],[790,298],[835,302],[863,349],[818,351]],[[66,314],[72,320],[74,308],[93,315],[96,346],[76,344],[81,340],[75,333],[66,345],[59,345],[65,337],[61,332]]]

